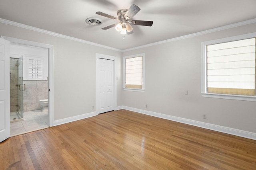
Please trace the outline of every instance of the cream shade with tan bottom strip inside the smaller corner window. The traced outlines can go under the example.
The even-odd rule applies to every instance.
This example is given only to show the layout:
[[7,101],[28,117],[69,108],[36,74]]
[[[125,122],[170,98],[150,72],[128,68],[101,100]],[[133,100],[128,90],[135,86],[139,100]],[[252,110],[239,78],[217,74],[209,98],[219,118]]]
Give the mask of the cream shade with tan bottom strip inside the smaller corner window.
[[125,88],[142,89],[143,57],[125,59]]

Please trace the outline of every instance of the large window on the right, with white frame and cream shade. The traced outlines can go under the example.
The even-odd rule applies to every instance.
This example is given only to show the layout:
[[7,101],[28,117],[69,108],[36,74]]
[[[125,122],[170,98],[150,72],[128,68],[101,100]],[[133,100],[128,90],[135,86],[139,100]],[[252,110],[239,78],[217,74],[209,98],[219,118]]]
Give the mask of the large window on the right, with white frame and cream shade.
[[248,34],[202,43],[202,96],[256,101],[255,37]]

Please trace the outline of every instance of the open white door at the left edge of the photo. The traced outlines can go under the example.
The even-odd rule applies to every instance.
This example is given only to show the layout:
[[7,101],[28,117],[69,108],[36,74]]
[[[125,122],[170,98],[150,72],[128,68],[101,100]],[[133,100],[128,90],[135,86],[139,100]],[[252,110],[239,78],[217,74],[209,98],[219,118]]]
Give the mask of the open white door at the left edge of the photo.
[[10,42],[0,38],[0,142],[10,137]]

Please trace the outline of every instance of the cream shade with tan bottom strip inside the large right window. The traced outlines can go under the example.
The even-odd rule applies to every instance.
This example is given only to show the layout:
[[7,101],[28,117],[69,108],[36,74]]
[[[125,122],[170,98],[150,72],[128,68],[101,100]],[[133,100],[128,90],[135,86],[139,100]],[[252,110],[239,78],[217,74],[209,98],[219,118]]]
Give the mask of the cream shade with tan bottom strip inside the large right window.
[[255,41],[207,46],[208,93],[255,96]]

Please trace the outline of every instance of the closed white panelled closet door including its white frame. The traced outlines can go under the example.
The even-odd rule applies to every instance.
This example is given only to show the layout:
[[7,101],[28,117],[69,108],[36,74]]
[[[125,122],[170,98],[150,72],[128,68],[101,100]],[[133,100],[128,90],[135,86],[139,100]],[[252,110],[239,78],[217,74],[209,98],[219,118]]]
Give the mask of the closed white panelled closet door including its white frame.
[[116,110],[116,57],[96,54],[96,113]]

